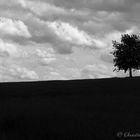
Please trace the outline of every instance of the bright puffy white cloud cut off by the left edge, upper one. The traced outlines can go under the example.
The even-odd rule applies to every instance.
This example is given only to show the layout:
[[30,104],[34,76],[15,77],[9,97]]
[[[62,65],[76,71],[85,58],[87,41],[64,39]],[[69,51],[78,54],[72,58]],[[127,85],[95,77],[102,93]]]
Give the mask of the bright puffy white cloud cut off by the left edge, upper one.
[[1,34],[17,35],[25,38],[31,37],[28,27],[22,21],[4,17],[0,17],[0,32]]

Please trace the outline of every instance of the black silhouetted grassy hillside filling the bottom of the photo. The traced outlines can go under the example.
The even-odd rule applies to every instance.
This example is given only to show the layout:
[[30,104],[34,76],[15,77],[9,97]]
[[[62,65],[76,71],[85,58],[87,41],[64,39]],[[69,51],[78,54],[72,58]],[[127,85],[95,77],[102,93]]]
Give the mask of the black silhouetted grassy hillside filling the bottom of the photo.
[[1,83],[0,90],[0,140],[140,133],[140,78]]

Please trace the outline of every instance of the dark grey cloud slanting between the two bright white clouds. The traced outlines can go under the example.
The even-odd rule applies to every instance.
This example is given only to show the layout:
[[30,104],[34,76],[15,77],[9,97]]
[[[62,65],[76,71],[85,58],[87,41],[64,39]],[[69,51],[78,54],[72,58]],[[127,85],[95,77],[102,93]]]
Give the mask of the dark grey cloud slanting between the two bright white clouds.
[[29,31],[32,34],[30,41],[39,44],[50,43],[57,52],[62,54],[72,53],[71,44],[59,39],[59,37],[48,28],[46,21],[30,17],[25,23],[28,25]]

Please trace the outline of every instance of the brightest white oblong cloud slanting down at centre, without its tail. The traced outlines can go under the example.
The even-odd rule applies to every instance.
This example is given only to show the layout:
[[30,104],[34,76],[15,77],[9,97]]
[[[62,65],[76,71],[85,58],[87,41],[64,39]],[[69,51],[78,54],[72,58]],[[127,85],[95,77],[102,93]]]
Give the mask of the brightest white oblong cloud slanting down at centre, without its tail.
[[69,41],[77,45],[93,45],[93,39],[90,35],[69,23],[55,21],[47,22],[47,25],[64,41]]

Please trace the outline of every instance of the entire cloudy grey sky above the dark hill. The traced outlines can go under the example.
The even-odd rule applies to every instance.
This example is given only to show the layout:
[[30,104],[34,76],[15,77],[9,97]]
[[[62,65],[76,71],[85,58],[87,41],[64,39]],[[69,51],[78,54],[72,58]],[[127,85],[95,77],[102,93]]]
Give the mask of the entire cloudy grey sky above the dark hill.
[[140,0],[0,0],[0,82],[122,76],[112,40],[139,34]]

